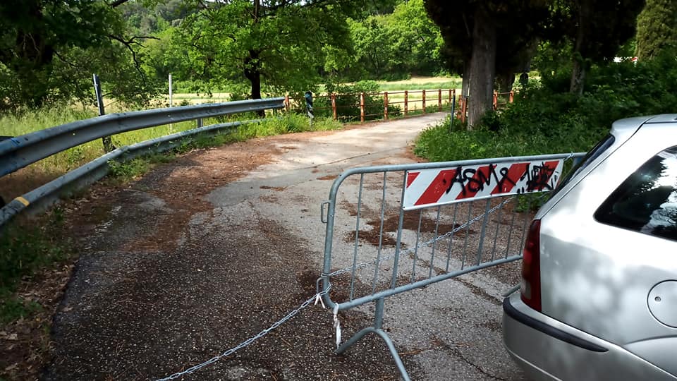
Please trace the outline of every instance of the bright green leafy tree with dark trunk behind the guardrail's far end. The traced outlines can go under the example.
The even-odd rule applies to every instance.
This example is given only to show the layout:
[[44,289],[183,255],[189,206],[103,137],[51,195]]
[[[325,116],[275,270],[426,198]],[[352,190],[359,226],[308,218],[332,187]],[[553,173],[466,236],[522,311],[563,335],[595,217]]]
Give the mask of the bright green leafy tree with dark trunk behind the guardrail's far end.
[[348,0],[194,1],[181,24],[193,77],[250,83],[249,97],[319,82],[327,48],[347,49]]

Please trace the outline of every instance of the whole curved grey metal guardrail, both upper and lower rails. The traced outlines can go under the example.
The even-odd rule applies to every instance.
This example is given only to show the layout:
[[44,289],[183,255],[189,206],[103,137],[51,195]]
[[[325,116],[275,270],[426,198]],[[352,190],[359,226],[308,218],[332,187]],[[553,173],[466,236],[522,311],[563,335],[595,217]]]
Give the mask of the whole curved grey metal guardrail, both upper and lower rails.
[[[103,136],[193,119],[197,119],[198,125],[200,125],[201,119],[212,116],[282,109],[284,107],[283,101],[284,98],[279,97],[109,114],[66,123],[27,135],[11,137],[0,141],[0,177],[11,174],[13,171],[45,157]],[[111,160],[133,159],[150,152],[164,152],[185,143],[186,140],[190,140],[195,135],[216,135],[231,131],[243,123],[258,121],[261,121],[261,119],[200,126],[193,130],[120,147],[33,191],[14,198],[0,208],[0,227],[20,212],[47,207],[58,200],[63,193],[84,188],[102,179],[108,174],[108,162]]]

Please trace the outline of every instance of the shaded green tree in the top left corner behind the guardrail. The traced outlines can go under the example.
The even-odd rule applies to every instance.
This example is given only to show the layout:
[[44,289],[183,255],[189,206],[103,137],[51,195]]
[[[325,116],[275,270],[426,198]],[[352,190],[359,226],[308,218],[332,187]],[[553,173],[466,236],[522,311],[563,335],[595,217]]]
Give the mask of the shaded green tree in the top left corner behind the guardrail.
[[[121,63],[139,68],[130,57],[140,40],[126,35],[123,19],[114,8],[123,2],[3,1],[0,109],[35,107],[72,97],[91,99],[91,91],[85,93],[82,89],[83,83],[91,89],[92,71],[109,70],[112,64]],[[104,66],[94,65],[104,61]],[[136,74],[142,77],[140,70]]]

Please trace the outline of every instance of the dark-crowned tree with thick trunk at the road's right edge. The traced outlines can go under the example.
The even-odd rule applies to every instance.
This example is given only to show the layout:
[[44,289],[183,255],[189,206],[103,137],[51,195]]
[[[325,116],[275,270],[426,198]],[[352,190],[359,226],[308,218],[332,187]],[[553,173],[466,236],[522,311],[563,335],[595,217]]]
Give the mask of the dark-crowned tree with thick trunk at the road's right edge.
[[[463,95],[470,93],[468,128],[471,129],[492,109],[494,78],[501,68],[507,78],[518,63],[509,61],[516,51],[528,55],[539,25],[547,19],[547,1],[542,0],[426,0],[429,16],[441,29],[451,64],[462,69]],[[499,41],[501,42],[499,49]],[[501,56],[499,56],[499,52]],[[514,63],[512,61],[518,61]]]

